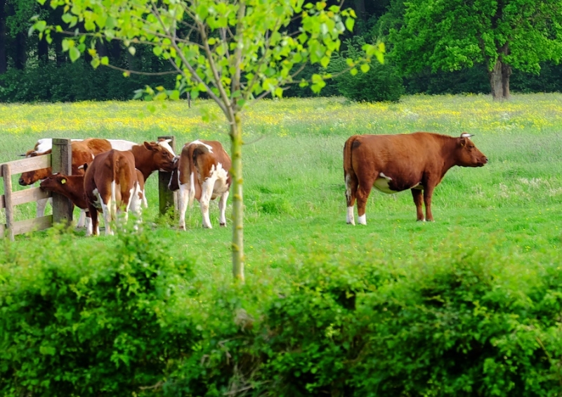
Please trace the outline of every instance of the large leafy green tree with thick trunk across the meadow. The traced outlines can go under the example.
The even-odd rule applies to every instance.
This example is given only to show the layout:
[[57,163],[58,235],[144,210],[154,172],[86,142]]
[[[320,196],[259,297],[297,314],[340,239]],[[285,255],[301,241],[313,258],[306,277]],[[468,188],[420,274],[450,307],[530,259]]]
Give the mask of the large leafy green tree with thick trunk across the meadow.
[[[402,0],[396,0],[401,3]],[[562,0],[410,0],[391,30],[390,55],[406,74],[488,67],[494,99],[509,99],[512,68],[538,72],[562,55]]]

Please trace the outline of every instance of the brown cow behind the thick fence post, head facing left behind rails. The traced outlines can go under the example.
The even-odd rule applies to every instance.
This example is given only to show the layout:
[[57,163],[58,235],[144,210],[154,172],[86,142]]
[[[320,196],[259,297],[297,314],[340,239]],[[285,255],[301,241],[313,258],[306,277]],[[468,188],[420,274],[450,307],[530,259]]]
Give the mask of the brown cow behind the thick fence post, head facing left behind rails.
[[[72,141],[70,145],[72,146],[72,175],[84,174],[84,171],[78,167],[91,162],[95,155],[111,150],[111,144],[107,139],[89,138],[84,141]],[[51,150],[45,152],[32,151],[28,152],[27,157],[46,155],[50,152]],[[51,167],[27,171],[20,176],[19,183],[21,186],[31,185],[51,174]]]

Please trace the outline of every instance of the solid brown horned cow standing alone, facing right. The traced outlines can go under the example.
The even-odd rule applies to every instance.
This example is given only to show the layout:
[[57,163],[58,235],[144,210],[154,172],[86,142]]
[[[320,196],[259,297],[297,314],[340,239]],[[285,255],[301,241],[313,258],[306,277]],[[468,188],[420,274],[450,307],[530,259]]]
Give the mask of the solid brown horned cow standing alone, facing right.
[[[415,132],[397,135],[355,135],[344,145],[347,223],[355,225],[353,205],[357,199],[358,223],[367,224],[365,206],[371,189],[397,193],[411,189],[418,221],[433,221],[431,196],[445,173],[455,165],[482,167],[488,162],[470,140]],[[423,201],[426,216],[421,209]]]

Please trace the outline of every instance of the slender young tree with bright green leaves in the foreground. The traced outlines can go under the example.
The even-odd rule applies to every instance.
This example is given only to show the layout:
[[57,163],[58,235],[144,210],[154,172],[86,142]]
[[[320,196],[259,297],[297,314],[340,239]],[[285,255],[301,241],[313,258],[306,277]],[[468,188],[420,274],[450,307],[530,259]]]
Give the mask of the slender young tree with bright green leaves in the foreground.
[[[109,63],[96,53],[96,39],[122,40],[131,54],[136,45],[147,44],[174,66],[178,84],[174,91],[147,88],[145,93],[163,99],[179,98],[184,91],[197,98],[205,92],[221,108],[230,126],[233,160],[233,274],[243,281],[243,110],[267,95],[281,97],[282,87],[294,82],[306,63],[326,67],[339,50],[340,35],[353,29],[355,13],[342,10],[341,4],[304,0],[51,0],[50,4],[64,7],[63,20],[70,27],[83,23],[90,32],[93,40],[87,51],[94,67]],[[289,31],[296,20],[298,30]],[[44,21],[35,26],[50,32]],[[64,46],[76,60],[86,50],[85,37],[67,39]],[[372,56],[381,58],[384,48],[364,49],[365,59],[348,61],[354,70],[359,63],[368,70],[364,62]],[[326,77],[313,75],[313,91],[325,86]]]

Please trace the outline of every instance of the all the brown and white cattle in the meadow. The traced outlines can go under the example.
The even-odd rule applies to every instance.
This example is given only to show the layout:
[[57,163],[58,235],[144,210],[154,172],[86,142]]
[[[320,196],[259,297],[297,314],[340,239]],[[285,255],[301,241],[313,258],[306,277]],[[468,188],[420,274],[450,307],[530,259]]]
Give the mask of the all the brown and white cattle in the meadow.
[[[488,158],[472,143],[471,134],[458,138],[416,132],[397,135],[355,135],[344,145],[347,223],[355,225],[353,207],[357,200],[358,223],[366,225],[365,207],[372,188],[383,193],[412,190],[418,221],[433,221],[431,196],[445,173],[454,166],[482,167]],[[78,226],[86,235],[98,235],[98,211],[103,213],[105,233],[119,211],[139,214],[147,206],[144,184],[152,172],[171,172],[169,188],[179,190],[180,222],[185,229],[185,212],[194,199],[200,202],[203,226],[211,228],[209,203],[220,197],[219,223],[226,226],[226,200],[231,183],[230,157],[221,143],[193,141],[176,155],[169,140],[144,142],[89,138],[73,140],[72,175],[51,174],[51,169],[29,171],[20,185],[41,181],[41,188],[60,193],[82,209]],[[50,153],[52,140],[40,139],[25,156]],[[422,201],[426,214],[422,211]],[[46,202],[38,202],[38,216]]]

